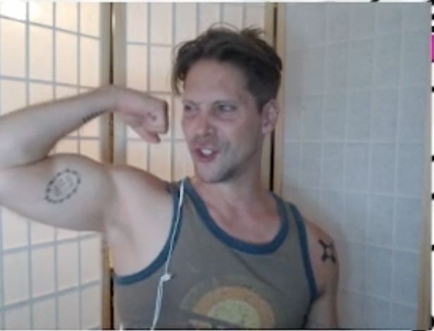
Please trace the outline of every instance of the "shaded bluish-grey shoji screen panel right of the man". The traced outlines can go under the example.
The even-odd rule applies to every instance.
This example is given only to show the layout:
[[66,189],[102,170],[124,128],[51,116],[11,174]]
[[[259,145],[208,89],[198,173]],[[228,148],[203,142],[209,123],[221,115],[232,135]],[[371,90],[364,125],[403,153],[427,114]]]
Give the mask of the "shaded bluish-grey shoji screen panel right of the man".
[[286,11],[283,194],[335,238],[340,327],[414,329],[430,5]]

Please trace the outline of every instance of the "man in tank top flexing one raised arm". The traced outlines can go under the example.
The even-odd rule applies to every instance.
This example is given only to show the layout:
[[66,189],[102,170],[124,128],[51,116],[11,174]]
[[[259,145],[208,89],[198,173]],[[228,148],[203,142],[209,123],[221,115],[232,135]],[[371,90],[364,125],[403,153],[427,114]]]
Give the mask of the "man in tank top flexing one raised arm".
[[332,239],[261,184],[278,119],[281,61],[259,32],[211,29],[178,51],[182,129],[195,175],[167,183],[127,165],[48,156],[58,139],[116,111],[159,142],[164,101],[101,87],[0,118],[0,204],[106,237],[125,328],[337,327]]

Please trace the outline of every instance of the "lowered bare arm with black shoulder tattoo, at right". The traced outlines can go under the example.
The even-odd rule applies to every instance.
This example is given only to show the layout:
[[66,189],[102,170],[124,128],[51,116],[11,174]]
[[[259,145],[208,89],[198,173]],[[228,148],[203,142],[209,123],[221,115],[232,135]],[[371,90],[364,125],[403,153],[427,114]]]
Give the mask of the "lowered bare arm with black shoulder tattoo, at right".
[[311,265],[318,297],[311,304],[307,329],[335,329],[337,325],[337,283],[339,264],[333,239],[321,227],[306,222]]

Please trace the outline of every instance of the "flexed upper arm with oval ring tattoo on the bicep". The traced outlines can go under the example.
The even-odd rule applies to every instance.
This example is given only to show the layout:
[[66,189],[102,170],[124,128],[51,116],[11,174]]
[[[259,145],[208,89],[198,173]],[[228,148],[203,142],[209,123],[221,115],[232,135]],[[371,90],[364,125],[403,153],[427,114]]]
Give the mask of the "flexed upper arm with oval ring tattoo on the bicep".
[[102,232],[114,185],[106,165],[75,154],[0,172],[0,204],[26,218],[71,230]]

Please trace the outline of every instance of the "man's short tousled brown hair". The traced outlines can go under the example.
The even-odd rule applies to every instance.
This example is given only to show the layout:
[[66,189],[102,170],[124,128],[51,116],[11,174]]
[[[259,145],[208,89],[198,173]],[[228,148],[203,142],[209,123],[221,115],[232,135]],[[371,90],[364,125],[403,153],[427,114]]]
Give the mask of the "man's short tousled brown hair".
[[247,27],[243,30],[210,27],[196,39],[180,44],[172,71],[172,89],[180,94],[179,83],[185,83],[194,63],[202,59],[230,63],[242,70],[247,89],[262,107],[275,98],[280,86],[282,61],[275,50],[261,39],[263,31]]

